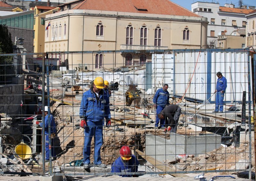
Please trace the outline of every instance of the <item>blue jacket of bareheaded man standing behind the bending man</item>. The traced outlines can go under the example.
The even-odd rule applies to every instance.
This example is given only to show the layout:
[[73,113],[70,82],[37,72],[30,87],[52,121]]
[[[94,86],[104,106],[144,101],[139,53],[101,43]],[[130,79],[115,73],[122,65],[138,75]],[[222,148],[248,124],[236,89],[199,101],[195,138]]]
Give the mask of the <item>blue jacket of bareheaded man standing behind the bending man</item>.
[[163,88],[161,89],[158,89],[156,91],[156,94],[153,98],[153,103],[155,105],[160,105],[162,107],[165,107],[165,105],[169,105],[169,98],[170,98],[170,95],[169,95],[169,92],[168,91],[164,91]]

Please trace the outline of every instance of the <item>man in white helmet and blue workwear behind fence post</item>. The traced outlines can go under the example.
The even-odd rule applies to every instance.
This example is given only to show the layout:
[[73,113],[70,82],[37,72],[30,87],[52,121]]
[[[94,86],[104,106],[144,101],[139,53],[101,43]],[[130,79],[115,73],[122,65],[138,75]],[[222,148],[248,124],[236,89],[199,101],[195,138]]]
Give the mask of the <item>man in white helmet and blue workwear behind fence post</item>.
[[[51,112],[48,115],[48,106],[44,106],[44,134],[45,134],[45,161],[49,161],[49,119],[50,119],[50,127],[51,127],[51,153],[53,156],[53,160],[56,158],[56,153],[54,152],[54,137],[56,136],[56,125],[54,121],[54,117],[52,116]],[[36,121],[36,124],[40,127],[43,127],[43,123],[39,123],[39,121]],[[43,134],[43,133],[42,133]]]

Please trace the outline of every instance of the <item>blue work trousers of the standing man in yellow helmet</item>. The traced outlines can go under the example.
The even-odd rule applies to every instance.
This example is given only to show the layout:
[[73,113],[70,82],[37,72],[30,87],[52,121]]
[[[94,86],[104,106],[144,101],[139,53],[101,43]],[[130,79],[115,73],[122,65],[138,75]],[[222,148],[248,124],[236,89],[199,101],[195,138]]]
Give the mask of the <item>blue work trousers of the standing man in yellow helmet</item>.
[[94,164],[101,163],[100,148],[103,144],[103,121],[87,121],[87,126],[84,128],[84,164],[90,164],[91,142],[94,137]]

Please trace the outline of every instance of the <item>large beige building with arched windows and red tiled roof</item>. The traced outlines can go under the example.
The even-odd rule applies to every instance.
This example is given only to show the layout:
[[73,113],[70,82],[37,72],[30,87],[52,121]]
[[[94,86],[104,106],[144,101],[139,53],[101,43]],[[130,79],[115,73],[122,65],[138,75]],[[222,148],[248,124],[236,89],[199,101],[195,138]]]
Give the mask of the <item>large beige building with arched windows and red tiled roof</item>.
[[[136,65],[151,61],[154,49],[200,49],[206,47],[206,18],[169,0],[87,0],[60,5],[46,15],[44,50],[133,50],[134,53],[55,54],[73,65],[89,68]],[[71,68],[71,66],[69,66]]]

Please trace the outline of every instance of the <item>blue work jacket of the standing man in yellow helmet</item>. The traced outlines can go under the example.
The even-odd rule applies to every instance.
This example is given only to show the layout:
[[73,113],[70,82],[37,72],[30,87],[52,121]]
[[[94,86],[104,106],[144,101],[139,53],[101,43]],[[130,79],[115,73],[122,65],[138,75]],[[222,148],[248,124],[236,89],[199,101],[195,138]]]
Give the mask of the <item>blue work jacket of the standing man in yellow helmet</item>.
[[89,121],[102,121],[111,119],[109,110],[108,95],[103,94],[103,90],[100,90],[99,97],[93,92],[92,88],[84,92],[80,111],[80,118],[84,118]]

